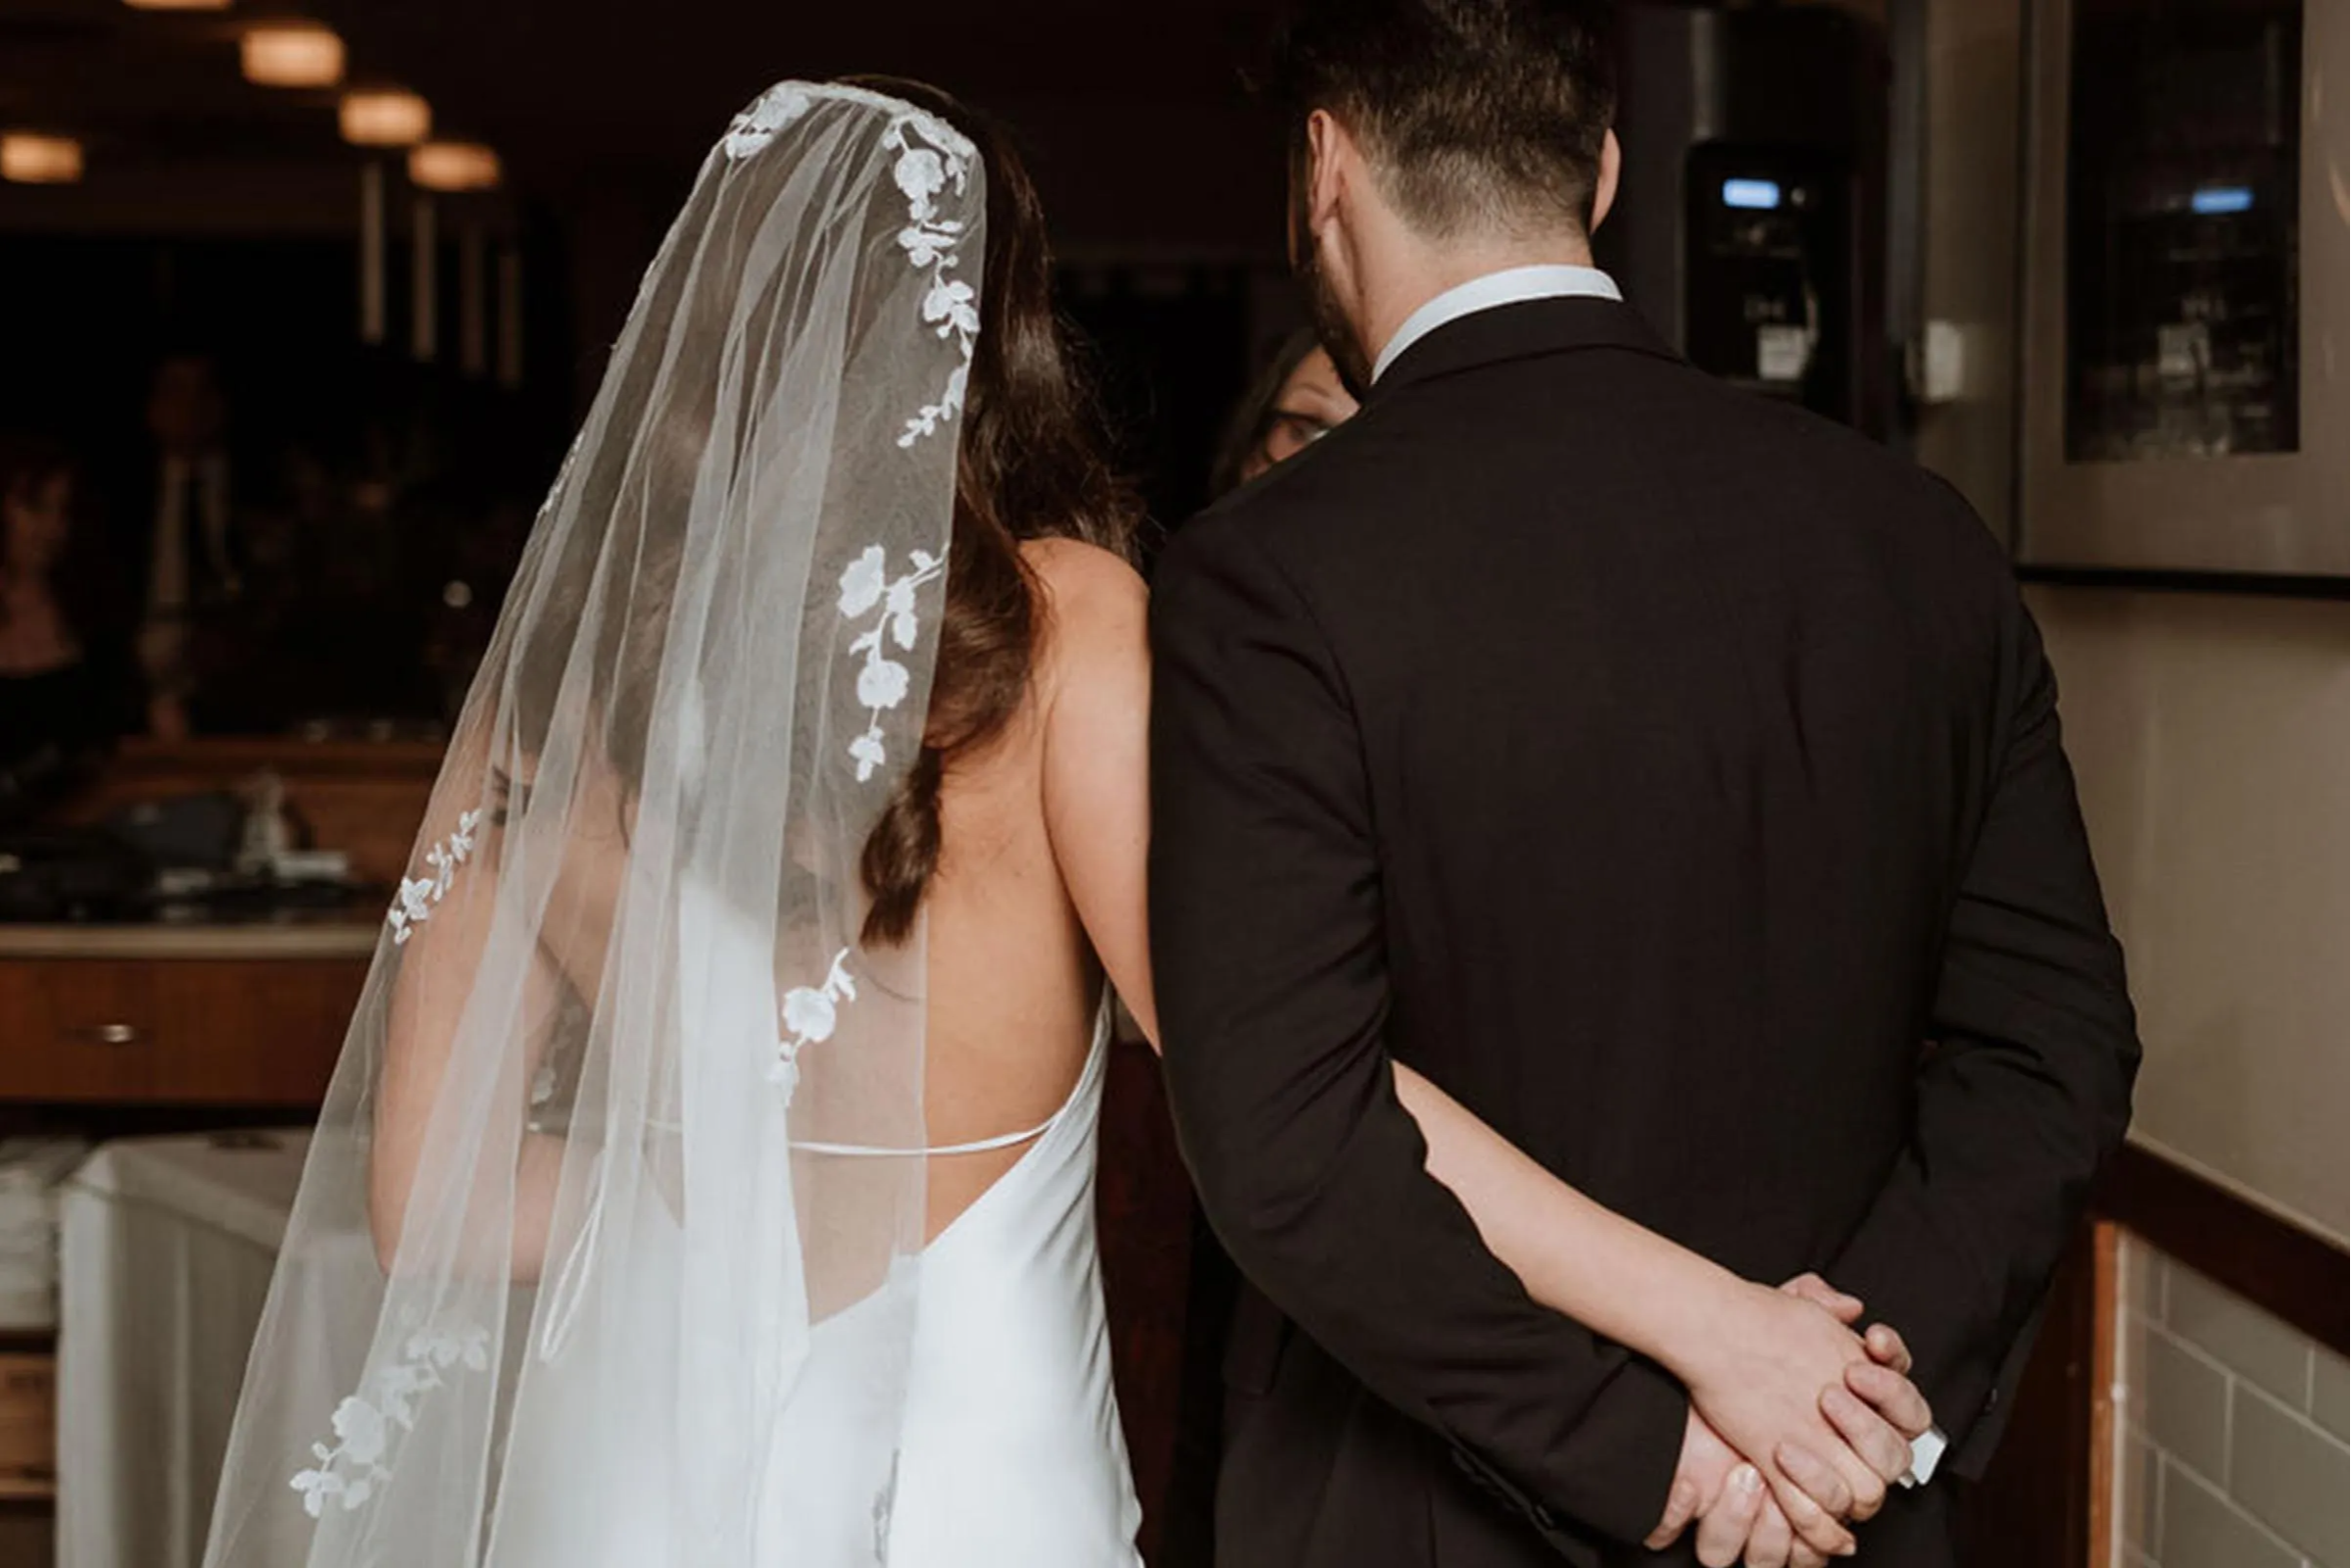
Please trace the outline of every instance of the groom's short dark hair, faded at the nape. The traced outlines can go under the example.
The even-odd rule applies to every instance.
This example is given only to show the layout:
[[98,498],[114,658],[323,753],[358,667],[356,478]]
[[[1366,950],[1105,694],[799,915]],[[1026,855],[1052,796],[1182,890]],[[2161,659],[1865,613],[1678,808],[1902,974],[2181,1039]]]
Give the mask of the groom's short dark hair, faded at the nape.
[[1396,212],[1432,237],[1592,230],[1615,120],[1606,0],[1298,0],[1267,89],[1291,122],[1328,110]]

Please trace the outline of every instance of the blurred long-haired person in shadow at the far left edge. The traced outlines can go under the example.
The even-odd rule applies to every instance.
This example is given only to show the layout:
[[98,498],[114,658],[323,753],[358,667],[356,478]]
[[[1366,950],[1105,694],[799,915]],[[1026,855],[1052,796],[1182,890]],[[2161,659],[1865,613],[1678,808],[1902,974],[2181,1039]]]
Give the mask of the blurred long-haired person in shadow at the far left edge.
[[63,447],[0,442],[0,823],[71,788],[125,722],[129,677],[78,491]]

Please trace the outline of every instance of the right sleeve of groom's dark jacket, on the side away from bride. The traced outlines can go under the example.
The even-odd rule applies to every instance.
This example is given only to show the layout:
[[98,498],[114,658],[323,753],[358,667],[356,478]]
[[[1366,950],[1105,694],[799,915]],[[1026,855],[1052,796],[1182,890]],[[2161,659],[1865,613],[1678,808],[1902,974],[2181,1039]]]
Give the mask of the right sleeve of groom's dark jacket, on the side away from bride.
[[2005,599],[2005,748],[1958,882],[1909,1143],[1831,1279],[1911,1345],[1911,1378],[1980,1474],[2022,1342],[2139,1065],[2057,726],[2057,679]]

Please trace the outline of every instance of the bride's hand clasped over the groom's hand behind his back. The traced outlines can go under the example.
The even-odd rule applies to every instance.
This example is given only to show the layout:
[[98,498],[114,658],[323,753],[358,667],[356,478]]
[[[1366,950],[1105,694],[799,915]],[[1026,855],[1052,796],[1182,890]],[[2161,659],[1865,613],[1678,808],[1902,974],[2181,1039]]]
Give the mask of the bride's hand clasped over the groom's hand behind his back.
[[[1700,1415],[1759,1462],[1796,1537],[1831,1556],[1855,1549],[1838,1521],[1874,1519],[1886,1483],[1909,1467],[1907,1443],[1874,1410],[1855,1422],[1860,1443],[1827,1413],[1829,1389],[1850,1399],[1848,1368],[1871,1361],[1867,1342],[1841,1321],[1857,1312],[1827,1288],[1730,1281],[1688,1354],[1667,1361]],[[1888,1472],[1895,1446],[1904,1453]]]

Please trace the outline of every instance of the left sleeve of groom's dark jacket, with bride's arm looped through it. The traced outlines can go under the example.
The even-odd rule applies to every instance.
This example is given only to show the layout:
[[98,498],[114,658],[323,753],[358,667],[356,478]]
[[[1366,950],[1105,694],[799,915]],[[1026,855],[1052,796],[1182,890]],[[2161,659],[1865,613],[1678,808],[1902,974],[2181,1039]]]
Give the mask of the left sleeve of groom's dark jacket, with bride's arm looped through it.
[[[1239,1267],[1561,1549],[1657,1526],[1683,1389],[1535,1305],[1425,1173],[1382,1039],[1380,860],[1345,677],[1253,531],[1154,604],[1152,957],[1171,1100]],[[1253,520],[1251,520],[1253,522]]]

